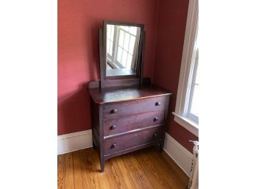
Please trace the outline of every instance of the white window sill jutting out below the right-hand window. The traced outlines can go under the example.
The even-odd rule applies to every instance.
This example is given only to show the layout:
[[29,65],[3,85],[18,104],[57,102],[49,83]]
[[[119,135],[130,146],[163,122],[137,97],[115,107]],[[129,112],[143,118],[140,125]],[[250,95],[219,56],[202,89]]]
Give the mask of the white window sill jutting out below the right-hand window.
[[177,113],[172,113],[174,115],[174,121],[176,121],[178,124],[183,126],[185,129],[187,129],[189,132],[193,133],[193,135],[196,135],[196,137],[199,136],[199,125],[192,121],[189,118],[182,117],[181,115],[178,115]]

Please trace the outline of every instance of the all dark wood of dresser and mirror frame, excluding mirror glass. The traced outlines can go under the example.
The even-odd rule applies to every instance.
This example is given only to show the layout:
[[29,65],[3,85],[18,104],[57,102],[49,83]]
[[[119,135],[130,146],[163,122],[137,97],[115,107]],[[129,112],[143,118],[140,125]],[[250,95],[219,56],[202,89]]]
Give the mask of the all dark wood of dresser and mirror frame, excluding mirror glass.
[[[135,75],[106,76],[107,24],[141,27]],[[150,79],[143,78],[145,34],[143,24],[104,21],[104,28],[99,29],[101,80],[90,82],[88,91],[91,103],[93,148],[99,153],[102,172],[104,162],[111,157],[154,144],[160,145],[160,150],[163,150],[162,125],[166,120],[168,109],[166,101],[171,92],[157,88],[151,85]],[[132,78],[134,76],[135,78]],[[109,146],[110,144],[112,147]]]

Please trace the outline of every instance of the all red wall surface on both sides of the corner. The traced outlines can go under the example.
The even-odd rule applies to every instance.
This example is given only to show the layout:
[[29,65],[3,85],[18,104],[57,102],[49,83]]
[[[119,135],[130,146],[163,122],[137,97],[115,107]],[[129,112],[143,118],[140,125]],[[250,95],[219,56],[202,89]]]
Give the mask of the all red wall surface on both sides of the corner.
[[188,0],[58,1],[58,135],[90,129],[88,82],[99,79],[103,20],[145,24],[144,76],[171,90],[168,133],[192,151],[198,138],[179,126],[175,109]]

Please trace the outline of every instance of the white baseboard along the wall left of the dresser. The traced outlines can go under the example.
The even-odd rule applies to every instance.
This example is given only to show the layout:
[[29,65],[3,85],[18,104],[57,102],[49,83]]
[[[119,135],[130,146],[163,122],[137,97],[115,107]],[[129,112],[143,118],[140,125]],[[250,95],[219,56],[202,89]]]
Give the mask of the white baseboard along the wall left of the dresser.
[[93,146],[92,130],[72,132],[57,137],[57,154],[65,154]]

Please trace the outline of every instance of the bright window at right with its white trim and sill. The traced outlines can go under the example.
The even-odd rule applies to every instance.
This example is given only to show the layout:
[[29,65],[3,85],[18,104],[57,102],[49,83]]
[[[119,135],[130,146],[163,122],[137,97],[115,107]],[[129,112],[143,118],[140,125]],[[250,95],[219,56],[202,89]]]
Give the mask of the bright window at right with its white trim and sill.
[[198,0],[189,1],[182,65],[179,73],[179,87],[174,114],[185,129],[198,136],[199,125],[199,44]]

